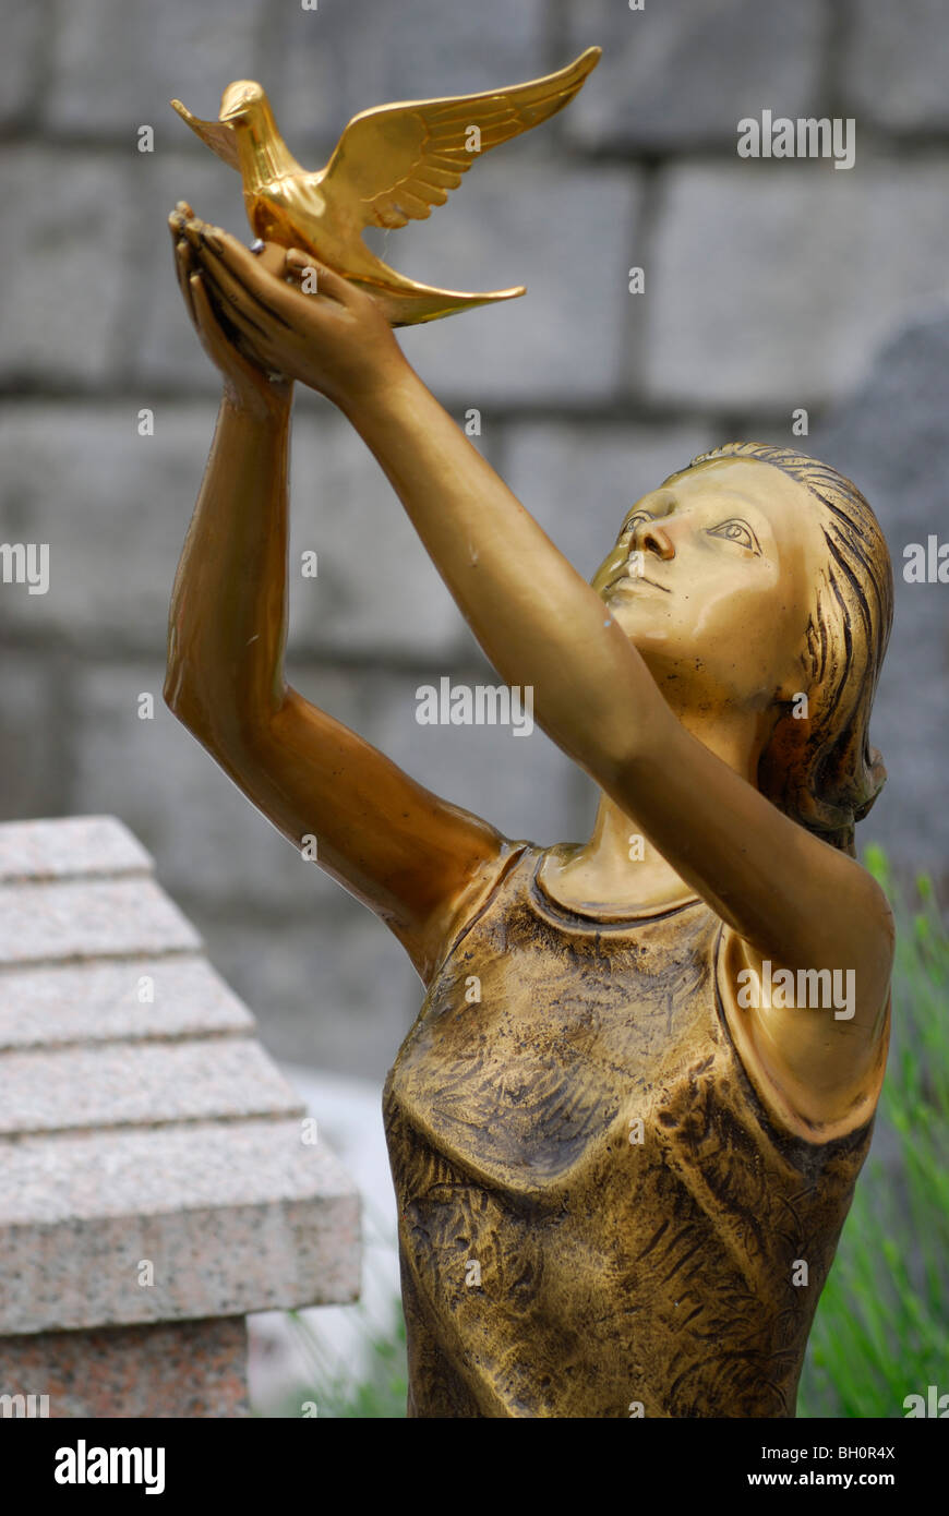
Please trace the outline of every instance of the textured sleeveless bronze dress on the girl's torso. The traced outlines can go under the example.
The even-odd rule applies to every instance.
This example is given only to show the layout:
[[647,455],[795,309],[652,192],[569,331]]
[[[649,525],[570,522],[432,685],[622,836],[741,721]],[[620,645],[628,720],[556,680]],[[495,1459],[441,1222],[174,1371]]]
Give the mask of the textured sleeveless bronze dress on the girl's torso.
[[567,910],[508,849],[385,1084],[408,1414],[793,1416],[872,1104],[779,1126],[716,913]]

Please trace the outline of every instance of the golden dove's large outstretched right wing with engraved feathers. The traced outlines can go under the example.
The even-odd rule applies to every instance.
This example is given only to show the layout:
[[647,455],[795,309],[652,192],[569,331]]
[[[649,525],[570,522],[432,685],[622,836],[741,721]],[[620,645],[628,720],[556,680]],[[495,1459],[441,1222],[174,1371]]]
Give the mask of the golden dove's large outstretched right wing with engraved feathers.
[[359,229],[424,220],[481,153],[561,111],[599,58],[600,49],[588,47],[558,73],[509,89],[361,111],[318,176],[327,209]]

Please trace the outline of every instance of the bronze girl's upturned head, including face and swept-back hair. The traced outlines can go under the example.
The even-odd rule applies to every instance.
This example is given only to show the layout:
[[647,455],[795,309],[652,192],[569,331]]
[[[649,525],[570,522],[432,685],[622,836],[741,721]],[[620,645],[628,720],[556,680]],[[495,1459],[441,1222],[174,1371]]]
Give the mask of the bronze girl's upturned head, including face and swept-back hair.
[[794,449],[729,443],[637,502],[593,585],[675,708],[760,716],[761,791],[853,852],[885,781],[869,723],[893,620],[860,490]]

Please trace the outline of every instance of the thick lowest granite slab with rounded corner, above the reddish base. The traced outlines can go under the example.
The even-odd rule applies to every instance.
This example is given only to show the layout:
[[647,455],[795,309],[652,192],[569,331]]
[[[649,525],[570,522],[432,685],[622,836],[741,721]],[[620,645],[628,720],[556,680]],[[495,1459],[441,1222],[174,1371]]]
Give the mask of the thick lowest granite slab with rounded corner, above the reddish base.
[[358,1299],[358,1196],[302,1139],[299,1120],[2,1139],[0,1334]]

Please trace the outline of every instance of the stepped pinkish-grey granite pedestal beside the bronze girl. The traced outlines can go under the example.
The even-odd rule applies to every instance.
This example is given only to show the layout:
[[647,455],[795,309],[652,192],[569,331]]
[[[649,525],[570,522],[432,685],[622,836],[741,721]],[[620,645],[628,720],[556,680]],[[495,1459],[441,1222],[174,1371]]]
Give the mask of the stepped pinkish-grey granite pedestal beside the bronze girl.
[[246,1314],[358,1299],[255,1029],[120,822],[0,825],[0,1417],[247,1416]]

